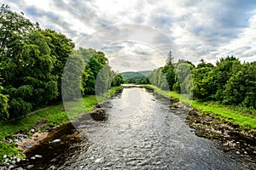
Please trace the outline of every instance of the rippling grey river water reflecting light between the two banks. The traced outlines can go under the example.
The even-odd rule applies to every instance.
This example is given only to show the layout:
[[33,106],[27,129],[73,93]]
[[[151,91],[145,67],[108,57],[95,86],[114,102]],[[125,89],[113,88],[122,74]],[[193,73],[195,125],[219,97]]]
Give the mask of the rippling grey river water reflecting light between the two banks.
[[108,120],[79,122],[79,140],[55,148],[61,150],[56,158],[43,155],[44,168],[255,168],[242,156],[220,150],[217,141],[197,137],[184,122],[184,111],[172,111],[169,105],[170,101],[158,99],[144,88],[124,88],[102,105]]

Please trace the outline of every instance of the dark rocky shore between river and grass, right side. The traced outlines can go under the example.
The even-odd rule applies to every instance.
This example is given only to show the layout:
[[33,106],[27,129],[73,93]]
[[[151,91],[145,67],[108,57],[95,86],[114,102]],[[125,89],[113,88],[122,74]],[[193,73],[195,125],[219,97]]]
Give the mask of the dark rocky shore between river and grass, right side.
[[[236,154],[250,159],[256,157],[256,133],[243,130],[236,123],[226,121],[211,113],[201,114],[195,109],[186,117],[189,127],[195,128],[197,136],[218,139],[224,151],[233,150]],[[255,160],[254,160],[255,161]]]

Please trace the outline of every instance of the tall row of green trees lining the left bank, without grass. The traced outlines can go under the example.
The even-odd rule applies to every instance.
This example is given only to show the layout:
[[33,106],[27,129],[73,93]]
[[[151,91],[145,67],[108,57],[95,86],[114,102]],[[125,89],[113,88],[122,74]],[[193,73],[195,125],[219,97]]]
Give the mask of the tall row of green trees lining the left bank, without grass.
[[[79,93],[95,94],[96,78],[102,72],[100,94],[119,86],[122,77],[95,49],[74,49],[72,39],[26,19],[23,13],[0,8],[0,121],[61,100],[61,82],[67,59],[73,60],[70,76],[80,75]],[[80,65],[80,66],[78,66]],[[73,67],[72,67],[73,66]],[[101,79],[101,78],[100,78]],[[103,80],[104,79],[104,80]],[[109,82],[111,81],[111,82]],[[75,95],[64,94],[73,99]]]

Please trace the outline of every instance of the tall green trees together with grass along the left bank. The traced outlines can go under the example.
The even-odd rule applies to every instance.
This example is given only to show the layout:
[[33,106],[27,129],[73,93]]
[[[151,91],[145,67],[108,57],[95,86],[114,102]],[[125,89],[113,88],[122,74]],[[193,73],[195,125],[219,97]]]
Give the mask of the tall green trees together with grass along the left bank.
[[[50,126],[65,123],[67,117],[61,104],[61,82],[69,89],[77,88],[84,96],[84,105],[92,110],[98,100],[113,94],[123,82],[119,73],[111,70],[108,59],[101,51],[92,48],[74,49],[75,44],[64,34],[40,28],[38,23],[27,20],[22,13],[0,8],[0,160],[8,156],[24,157],[17,148],[14,133],[31,135],[30,129],[44,130]],[[77,78],[76,83],[62,77],[67,59],[70,59],[67,77]],[[95,95],[96,77],[101,69],[101,86]],[[99,77],[98,77],[99,78]],[[111,82],[110,82],[111,81]],[[103,94],[103,95],[102,95]],[[75,99],[72,90],[62,92],[62,97]],[[37,111],[53,105],[44,111]],[[75,107],[73,107],[76,110]],[[38,122],[46,122],[45,127],[37,127]]]

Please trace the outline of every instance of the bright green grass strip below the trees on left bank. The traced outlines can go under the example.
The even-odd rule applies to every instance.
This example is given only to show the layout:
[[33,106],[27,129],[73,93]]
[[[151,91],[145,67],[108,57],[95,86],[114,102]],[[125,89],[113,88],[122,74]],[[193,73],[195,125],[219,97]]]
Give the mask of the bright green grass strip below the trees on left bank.
[[[87,111],[92,111],[97,103],[102,102],[109,96],[113,96],[113,94],[120,88],[123,87],[111,88],[107,93],[103,94],[102,96],[84,96],[83,103],[85,111],[84,108],[76,107],[76,105],[73,105],[74,103],[71,102],[70,105],[73,105],[72,110],[75,113],[72,116],[67,116],[64,105],[60,104],[54,105],[44,111],[38,111],[31,115],[21,117],[17,120],[0,122],[0,161],[3,161],[2,158],[4,155],[18,156],[20,158],[24,156],[22,152],[18,150],[15,144],[9,144],[2,139],[6,137],[12,138],[12,135],[18,132],[30,134],[29,130],[32,128],[36,130],[44,130],[45,128],[50,126],[61,126],[62,124],[79,117],[81,114],[86,113]],[[46,122],[47,124],[44,127],[38,127],[38,122]]]

